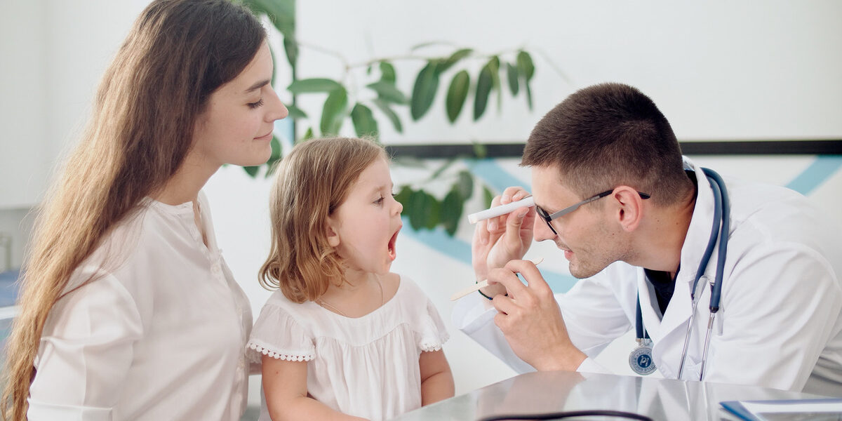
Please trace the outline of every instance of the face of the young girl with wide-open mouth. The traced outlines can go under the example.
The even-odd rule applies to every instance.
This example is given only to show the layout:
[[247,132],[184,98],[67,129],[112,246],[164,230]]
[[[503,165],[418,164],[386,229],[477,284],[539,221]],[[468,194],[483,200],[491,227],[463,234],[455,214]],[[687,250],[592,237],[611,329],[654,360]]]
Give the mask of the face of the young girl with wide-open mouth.
[[386,159],[377,158],[328,217],[328,242],[350,270],[386,274],[397,256],[395,242],[403,225],[401,205],[392,196]]

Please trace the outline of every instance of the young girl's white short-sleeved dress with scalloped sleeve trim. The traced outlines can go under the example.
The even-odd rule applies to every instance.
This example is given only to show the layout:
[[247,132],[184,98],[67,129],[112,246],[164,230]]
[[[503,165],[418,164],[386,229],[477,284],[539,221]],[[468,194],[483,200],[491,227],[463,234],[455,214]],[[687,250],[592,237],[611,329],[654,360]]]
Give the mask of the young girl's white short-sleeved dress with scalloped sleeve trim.
[[[275,291],[248,339],[248,356],[307,361],[307,392],[342,413],[381,420],[421,408],[418,357],[449,338],[433,303],[407,277],[363,317],[296,304]],[[260,420],[269,421],[264,402]]]

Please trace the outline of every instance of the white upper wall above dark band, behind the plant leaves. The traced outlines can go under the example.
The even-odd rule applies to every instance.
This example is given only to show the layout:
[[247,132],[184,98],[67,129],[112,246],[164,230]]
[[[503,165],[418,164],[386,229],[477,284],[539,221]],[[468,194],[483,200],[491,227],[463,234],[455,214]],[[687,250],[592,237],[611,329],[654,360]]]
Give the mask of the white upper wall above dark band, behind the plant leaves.
[[[381,125],[389,129],[384,137],[390,142],[525,139],[537,117],[568,93],[606,81],[630,83],[652,96],[681,140],[823,138],[842,132],[842,3],[831,0],[307,0],[298,8],[299,38],[341,51],[351,63],[404,56],[413,45],[434,40],[486,54],[519,46],[541,53],[535,56],[534,113],[523,107],[522,97],[510,101],[504,93],[502,112],[489,103],[482,124],[474,125],[463,109],[454,130],[446,123],[444,101],[437,101],[430,115],[408,125],[402,136]],[[415,53],[452,51],[430,47]],[[341,77],[338,64],[305,47],[299,77]],[[402,65],[398,85],[409,92],[423,62],[396,64]],[[472,64],[478,69],[483,62]],[[442,83],[455,72],[445,73]],[[354,77],[365,80],[364,72]]]

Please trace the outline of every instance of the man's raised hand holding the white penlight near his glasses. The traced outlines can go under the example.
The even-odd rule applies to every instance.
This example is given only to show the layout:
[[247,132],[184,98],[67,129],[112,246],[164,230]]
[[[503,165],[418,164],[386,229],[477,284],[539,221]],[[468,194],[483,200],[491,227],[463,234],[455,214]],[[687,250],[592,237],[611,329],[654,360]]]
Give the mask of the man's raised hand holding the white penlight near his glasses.
[[[509,187],[502,196],[492,200],[492,206],[506,205],[529,196],[520,187]],[[514,258],[523,258],[532,243],[532,226],[535,210],[522,207],[513,212],[486,221],[477,222],[471,243],[472,264],[477,281],[488,278],[491,269],[502,268]],[[487,296],[504,294],[500,286],[482,290]]]

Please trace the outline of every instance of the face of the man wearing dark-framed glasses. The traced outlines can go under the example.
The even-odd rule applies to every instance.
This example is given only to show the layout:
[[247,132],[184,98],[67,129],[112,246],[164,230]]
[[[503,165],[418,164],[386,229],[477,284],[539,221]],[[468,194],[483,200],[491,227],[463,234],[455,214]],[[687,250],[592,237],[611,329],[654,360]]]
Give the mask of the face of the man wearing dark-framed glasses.
[[[611,187],[600,187],[594,195]],[[532,195],[536,205],[549,214],[587,199],[566,187],[555,166],[532,167]],[[616,208],[610,203],[600,203],[610,200],[613,200],[611,195],[552,220],[558,234],[550,230],[541,216],[535,219],[535,240],[555,242],[564,251],[570,262],[570,274],[576,278],[589,278],[621,260],[625,236],[613,217]]]

